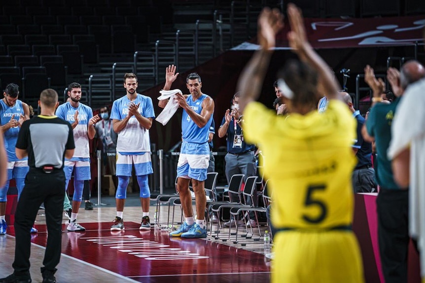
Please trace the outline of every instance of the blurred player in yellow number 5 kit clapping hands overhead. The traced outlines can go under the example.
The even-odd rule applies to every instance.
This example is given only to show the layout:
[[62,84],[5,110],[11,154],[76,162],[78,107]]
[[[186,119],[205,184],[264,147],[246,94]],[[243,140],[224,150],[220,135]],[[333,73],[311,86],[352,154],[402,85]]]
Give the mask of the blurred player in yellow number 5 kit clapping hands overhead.
[[[351,145],[355,124],[340,101],[338,83],[306,38],[300,10],[288,5],[290,46],[301,61],[288,61],[278,74],[290,116],[254,102],[261,92],[275,35],[283,27],[278,10],[264,9],[258,19],[256,51],[241,75],[239,105],[246,139],[264,156],[264,175],[273,193],[275,260],[272,282],[364,282],[357,240],[351,230],[354,195]],[[322,96],[328,108],[318,113]]]

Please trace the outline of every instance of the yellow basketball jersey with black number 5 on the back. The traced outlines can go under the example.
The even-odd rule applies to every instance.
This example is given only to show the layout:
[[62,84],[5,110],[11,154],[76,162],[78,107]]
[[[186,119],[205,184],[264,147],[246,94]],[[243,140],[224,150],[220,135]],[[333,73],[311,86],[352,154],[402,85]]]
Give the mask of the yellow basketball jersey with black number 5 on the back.
[[324,113],[277,116],[260,103],[244,111],[244,136],[263,152],[264,176],[276,228],[326,228],[353,219],[351,145],[355,121],[346,104],[331,100]]

